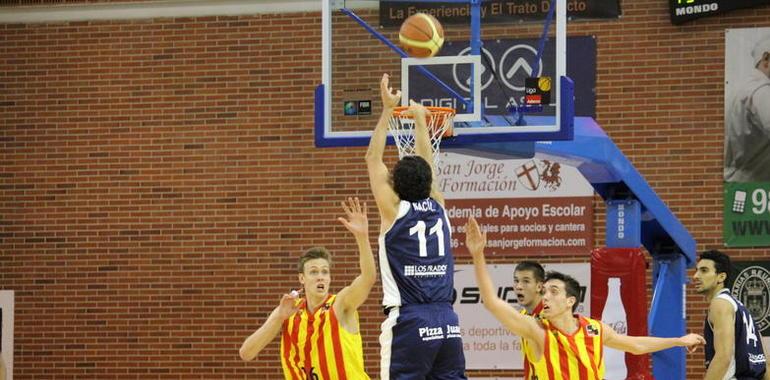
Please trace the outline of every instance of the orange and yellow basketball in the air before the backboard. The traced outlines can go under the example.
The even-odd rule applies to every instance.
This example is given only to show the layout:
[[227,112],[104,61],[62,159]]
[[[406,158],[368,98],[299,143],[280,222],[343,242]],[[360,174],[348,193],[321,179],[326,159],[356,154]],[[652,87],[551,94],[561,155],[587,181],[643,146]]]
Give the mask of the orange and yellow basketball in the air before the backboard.
[[435,17],[415,13],[401,24],[398,39],[410,57],[428,58],[436,55],[444,44],[444,28]]

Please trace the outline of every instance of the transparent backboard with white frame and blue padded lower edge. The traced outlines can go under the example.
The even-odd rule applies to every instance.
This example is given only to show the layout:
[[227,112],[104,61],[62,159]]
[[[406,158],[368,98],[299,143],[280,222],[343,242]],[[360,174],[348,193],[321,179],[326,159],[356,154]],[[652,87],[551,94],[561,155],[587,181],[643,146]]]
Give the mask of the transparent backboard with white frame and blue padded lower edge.
[[[566,0],[322,1],[317,146],[368,144],[383,73],[404,105],[457,109],[455,137],[442,146],[572,138]],[[406,57],[398,46],[401,22],[418,11],[444,28],[436,57]]]

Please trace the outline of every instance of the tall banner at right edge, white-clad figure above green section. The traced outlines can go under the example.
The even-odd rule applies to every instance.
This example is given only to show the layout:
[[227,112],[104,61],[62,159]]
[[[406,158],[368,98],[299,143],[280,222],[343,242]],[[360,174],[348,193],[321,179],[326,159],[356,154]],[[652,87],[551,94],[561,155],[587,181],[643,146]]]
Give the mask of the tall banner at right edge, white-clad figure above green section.
[[770,245],[770,28],[725,33],[725,245]]

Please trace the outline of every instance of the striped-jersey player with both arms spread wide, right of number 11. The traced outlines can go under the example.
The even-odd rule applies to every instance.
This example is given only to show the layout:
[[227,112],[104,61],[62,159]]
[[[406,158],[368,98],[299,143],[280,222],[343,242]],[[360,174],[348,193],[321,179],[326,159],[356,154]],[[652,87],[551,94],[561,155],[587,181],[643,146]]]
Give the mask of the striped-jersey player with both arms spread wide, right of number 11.
[[473,256],[484,307],[510,332],[527,341],[531,349],[525,354],[534,364],[538,380],[603,379],[604,346],[641,355],[672,347],[693,351],[705,344],[705,339],[697,334],[679,338],[622,335],[600,321],[574,314],[580,284],[559,272],[546,275],[542,318],[523,315],[495,293],[484,259],[486,233],[481,232],[474,218],[468,220],[465,230],[465,244]]

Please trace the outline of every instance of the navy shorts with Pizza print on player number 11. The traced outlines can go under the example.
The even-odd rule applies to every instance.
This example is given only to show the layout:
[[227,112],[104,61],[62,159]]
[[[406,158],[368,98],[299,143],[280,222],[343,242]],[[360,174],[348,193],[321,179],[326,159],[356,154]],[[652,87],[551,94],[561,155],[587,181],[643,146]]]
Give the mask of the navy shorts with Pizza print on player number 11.
[[391,308],[381,329],[381,380],[467,379],[460,324],[452,305]]

